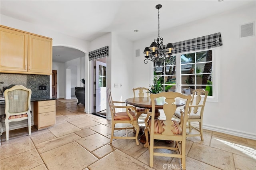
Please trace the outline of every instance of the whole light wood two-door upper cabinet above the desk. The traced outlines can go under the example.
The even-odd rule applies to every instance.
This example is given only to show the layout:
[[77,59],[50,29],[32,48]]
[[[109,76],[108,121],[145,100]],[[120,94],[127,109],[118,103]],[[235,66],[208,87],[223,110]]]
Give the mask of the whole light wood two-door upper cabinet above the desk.
[[0,26],[0,72],[52,74],[52,39]]

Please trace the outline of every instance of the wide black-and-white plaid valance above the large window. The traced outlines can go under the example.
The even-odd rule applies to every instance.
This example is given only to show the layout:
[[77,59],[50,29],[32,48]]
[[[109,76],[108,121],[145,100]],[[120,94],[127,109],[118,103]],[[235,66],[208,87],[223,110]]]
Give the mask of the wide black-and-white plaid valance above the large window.
[[[193,38],[193,39],[185,40],[181,42],[175,42],[172,44],[175,47],[175,49],[172,51],[172,54],[209,49],[209,48],[223,45],[220,32],[215,34],[210,34],[208,36]],[[165,48],[166,48],[166,45],[163,45],[163,49]]]

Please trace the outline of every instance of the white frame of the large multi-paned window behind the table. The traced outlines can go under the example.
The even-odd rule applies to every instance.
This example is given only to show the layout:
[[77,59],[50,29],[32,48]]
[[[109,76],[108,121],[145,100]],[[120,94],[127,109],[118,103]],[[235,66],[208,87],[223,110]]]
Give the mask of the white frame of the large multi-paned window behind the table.
[[[178,53],[174,54],[176,56],[176,92],[181,93],[181,55],[187,54],[187,53],[196,53],[201,51],[209,51],[212,50],[212,96],[207,97],[207,101],[210,102],[218,102],[219,99],[219,85],[220,85],[220,78],[219,78],[219,52],[218,47],[210,48],[210,49],[203,49],[203,50],[197,50],[197,51],[189,51],[185,53]],[[153,82],[153,71],[154,71],[154,64],[151,63],[151,82]],[[177,67],[178,66],[178,67]]]

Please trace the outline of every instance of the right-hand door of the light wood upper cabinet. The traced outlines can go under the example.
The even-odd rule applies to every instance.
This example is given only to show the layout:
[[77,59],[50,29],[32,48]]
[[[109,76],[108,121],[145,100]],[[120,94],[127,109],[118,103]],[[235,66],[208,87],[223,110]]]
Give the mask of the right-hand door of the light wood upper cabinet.
[[52,40],[28,35],[28,72],[52,73]]

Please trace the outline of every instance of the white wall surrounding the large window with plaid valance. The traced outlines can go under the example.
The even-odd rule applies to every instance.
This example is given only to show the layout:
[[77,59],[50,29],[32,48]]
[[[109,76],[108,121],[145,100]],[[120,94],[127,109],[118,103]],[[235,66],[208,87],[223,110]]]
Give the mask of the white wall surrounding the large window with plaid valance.
[[[220,32],[223,46],[219,52],[219,100],[207,102],[204,110],[204,128],[256,138],[256,39],[239,38],[240,25],[255,24],[255,6],[240,8],[174,29],[160,31],[164,44],[179,42]],[[157,31],[157,30],[156,30]],[[255,30],[254,30],[255,32]],[[134,86],[148,87],[150,64],[144,64],[143,50],[156,37],[134,43],[141,56],[134,58]],[[141,81],[136,81],[140,79]]]

